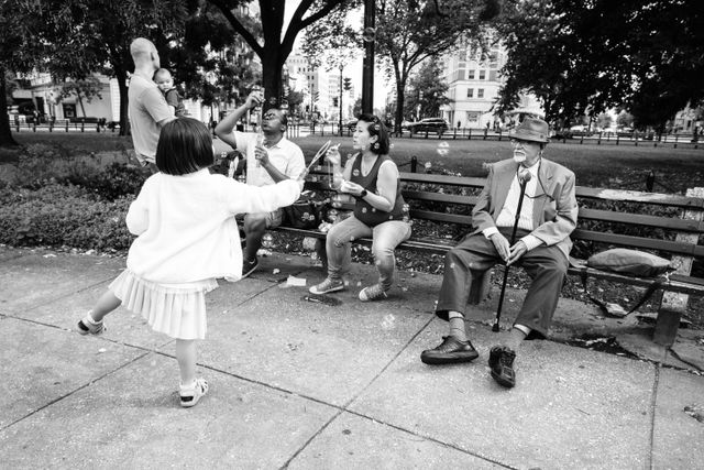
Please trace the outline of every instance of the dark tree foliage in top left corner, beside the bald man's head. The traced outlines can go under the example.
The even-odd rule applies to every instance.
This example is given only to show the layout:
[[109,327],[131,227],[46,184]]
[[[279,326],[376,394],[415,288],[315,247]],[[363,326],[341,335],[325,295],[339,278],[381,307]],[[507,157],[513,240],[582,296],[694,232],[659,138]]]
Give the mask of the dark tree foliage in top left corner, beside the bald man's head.
[[[157,46],[168,44],[180,35],[187,15],[184,0],[3,0],[0,8],[6,33],[6,41],[0,43],[0,68],[47,72],[58,81],[85,81],[96,72],[116,77],[121,133],[128,128],[127,79],[133,68],[132,40],[144,36]],[[0,95],[4,101],[4,92]],[[4,109],[6,102],[0,106]],[[6,136],[10,132],[7,113],[2,114],[0,145],[11,143]]]

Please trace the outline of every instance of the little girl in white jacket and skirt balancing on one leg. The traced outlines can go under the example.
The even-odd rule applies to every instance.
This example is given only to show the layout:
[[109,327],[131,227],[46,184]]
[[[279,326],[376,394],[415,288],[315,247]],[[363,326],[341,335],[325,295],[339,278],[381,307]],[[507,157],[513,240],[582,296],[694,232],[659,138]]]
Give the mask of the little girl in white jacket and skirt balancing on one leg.
[[205,294],[216,277],[238,281],[242,271],[237,214],[272,211],[292,205],[302,183],[285,179],[249,186],[219,174],[208,128],[191,118],[168,122],[156,150],[158,173],[140,190],[127,214],[130,247],[127,269],[78,321],[81,335],[106,330],[106,315],[123,305],[155,331],[176,339],[180,405],[194,406],[208,392],[196,378],[196,342],[206,337]]

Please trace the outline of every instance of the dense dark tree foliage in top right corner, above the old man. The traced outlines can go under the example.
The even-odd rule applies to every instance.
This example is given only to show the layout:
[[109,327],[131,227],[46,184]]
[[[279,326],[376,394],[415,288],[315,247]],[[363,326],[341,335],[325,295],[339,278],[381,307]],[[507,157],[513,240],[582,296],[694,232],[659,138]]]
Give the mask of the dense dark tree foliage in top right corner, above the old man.
[[636,125],[661,127],[704,98],[702,24],[696,0],[506,1],[498,108],[530,91],[564,125],[619,107]]

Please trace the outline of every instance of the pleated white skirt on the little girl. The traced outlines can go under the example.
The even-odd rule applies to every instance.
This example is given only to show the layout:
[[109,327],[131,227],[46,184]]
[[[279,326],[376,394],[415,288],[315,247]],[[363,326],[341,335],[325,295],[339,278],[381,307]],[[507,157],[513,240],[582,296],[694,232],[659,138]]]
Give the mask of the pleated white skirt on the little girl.
[[215,278],[184,284],[145,281],[124,270],[108,288],[122,305],[140,314],[154,331],[176,339],[205,339],[206,293],[218,287]]

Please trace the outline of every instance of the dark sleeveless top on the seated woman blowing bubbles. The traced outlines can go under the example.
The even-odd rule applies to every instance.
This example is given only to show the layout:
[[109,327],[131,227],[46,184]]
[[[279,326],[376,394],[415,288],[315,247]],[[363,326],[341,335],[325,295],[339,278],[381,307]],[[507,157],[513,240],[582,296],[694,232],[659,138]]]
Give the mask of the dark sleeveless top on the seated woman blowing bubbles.
[[[372,166],[370,173],[366,176],[362,176],[362,155],[358,154],[352,164],[352,183],[356,183],[367,192],[376,194],[378,168],[382,166],[382,163],[387,160],[391,160],[388,155],[380,155],[376,162],[374,162],[374,166]],[[366,200],[358,197],[356,204],[354,205],[354,217],[370,227],[378,226],[388,220],[404,220],[404,216],[406,216],[406,211],[404,210],[405,205],[404,197],[400,195],[400,179],[396,179],[396,200],[389,212],[372,207]]]

